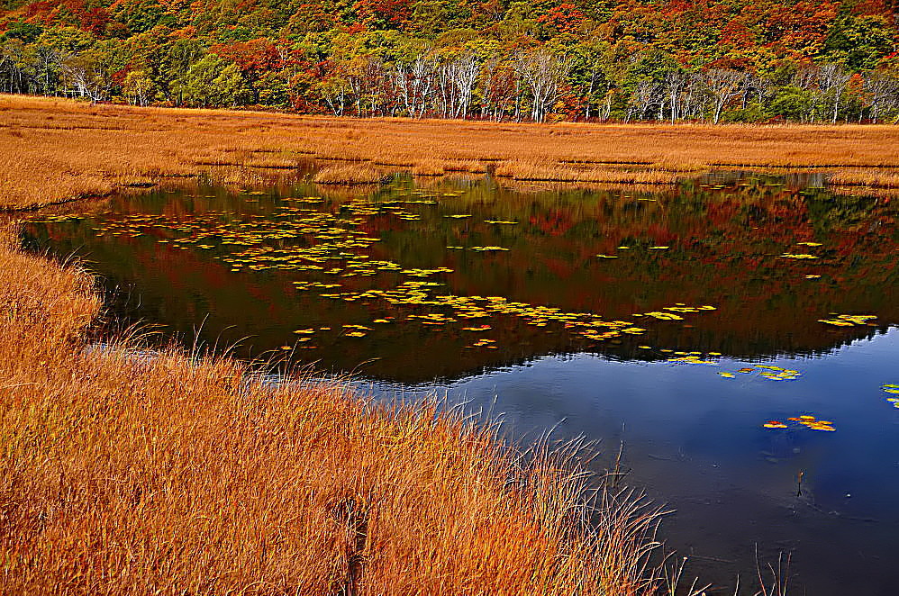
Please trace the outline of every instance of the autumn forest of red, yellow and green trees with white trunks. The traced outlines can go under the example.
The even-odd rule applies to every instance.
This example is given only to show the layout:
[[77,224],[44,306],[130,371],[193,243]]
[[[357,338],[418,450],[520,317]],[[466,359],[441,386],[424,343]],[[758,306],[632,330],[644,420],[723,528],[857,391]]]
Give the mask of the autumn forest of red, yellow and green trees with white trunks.
[[894,122],[889,0],[0,0],[0,90],[495,120]]

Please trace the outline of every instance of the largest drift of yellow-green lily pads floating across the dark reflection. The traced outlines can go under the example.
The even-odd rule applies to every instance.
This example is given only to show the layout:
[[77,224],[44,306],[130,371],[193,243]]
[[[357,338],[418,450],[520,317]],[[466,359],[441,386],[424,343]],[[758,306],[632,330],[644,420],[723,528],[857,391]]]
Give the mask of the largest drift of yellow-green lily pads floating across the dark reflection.
[[[244,193],[250,194],[250,193]],[[446,194],[448,197],[457,193]],[[98,236],[127,234],[133,237],[152,234],[160,243],[173,248],[223,248],[213,252],[213,258],[227,264],[232,272],[290,271],[313,275],[312,279],[293,282],[297,292],[316,292],[322,298],[349,303],[386,303],[389,306],[413,306],[427,309],[427,314],[409,315],[407,321],[431,327],[445,326],[458,321],[511,316],[527,325],[542,328],[558,325],[591,341],[604,341],[622,335],[638,335],[646,330],[631,321],[606,320],[593,312],[566,312],[550,306],[514,302],[502,296],[459,296],[449,293],[444,275],[453,273],[449,267],[405,267],[394,261],[376,259],[368,249],[380,241],[363,230],[372,216],[396,217],[412,220],[417,213],[408,212],[404,205],[438,204],[439,194],[412,191],[395,200],[369,201],[356,199],[329,209],[322,197],[290,197],[271,215],[240,214],[206,211],[179,221],[169,215],[124,215],[95,224]],[[451,220],[468,220],[470,213],[445,215]],[[494,226],[513,226],[517,221],[484,220]],[[148,233],[150,232],[150,233]],[[450,247],[473,252],[506,251],[500,246]],[[622,249],[628,247],[621,247]],[[665,249],[653,246],[651,249]],[[396,280],[392,288],[369,288],[359,291],[335,292],[343,287],[341,280],[349,277],[374,277],[390,274]],[[322,280],[333,276],[334,281]],[[384,284],[381,283],[381,286]],[[678,303],[659,311],[633,313],[632,318],[652,318],[661,321],[682,321],[686,313],[713,311],[711,305],[688,306]],[[472,330],[474,328],[464,328]],[[479,331],[487,326],[478,328]],[[344,330],[346,337],[365,337],[369,330]],[[493,341],[479,339],[471,347],[495,348]]]

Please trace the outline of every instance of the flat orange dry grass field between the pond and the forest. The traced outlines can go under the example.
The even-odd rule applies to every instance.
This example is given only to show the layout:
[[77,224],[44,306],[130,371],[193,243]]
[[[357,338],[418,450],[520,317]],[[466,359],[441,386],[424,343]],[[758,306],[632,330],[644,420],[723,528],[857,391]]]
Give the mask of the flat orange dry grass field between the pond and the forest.
[[352,120],[0,95],[0,147],[5,209],[222,167],[292,168],[309,158],[385,173],[489,169],[519,180],[626,184],[670,183],[707,167],[879,167],[879,180],[899,184],[890,171],[899,167],[899,127],[889,125]]

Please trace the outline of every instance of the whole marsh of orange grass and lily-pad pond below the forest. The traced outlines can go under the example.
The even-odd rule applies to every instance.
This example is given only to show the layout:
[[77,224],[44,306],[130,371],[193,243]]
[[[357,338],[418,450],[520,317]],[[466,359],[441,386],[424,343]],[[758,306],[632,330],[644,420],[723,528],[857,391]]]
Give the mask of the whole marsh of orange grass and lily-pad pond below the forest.
[[[0,134],[50,134],[47,100],[4,101]],[[54,120],[114,111],[84,109]],[[9,158],[5,205],[44,206],[0,255],[10,593],[894,593],[889,127],[656,126],[684,137],[603,159],[623,127],[522,125],[347,162],[254,153],[247,122],[383,139],[210,113],[247,130],[203,131],[203,164],[73,165],[180,138],[149,112],[171,130],[54,129],[80,201]]]

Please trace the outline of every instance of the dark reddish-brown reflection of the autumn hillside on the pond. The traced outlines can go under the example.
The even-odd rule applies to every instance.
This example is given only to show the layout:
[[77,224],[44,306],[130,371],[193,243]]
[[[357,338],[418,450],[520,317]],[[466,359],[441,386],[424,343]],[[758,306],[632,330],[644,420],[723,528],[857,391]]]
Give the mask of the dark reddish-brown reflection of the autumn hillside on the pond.
[[[828,328],[817,320],[845,312],[876,314],[880,329],[899,322],[896,210],[888,199],[835,197],[813,188],[818,181],[714,174],[654,194],[639,189],[519,193],[489,178],[464,185],[434,181],[431,190],[463,194],[418,210],[418,221],[400,222],[386,213],[369,217],[361,229],[382,238],[371,249],[373,258],[404,266],[449,266],[455,270],[445,280],[451,293],[501,295],[568,312],[596,312],[609,320],[630,320],[633,313],[675,303],[713,304],[718,310],[687,315],[685,321],[641,320],[648,329],[644,336],[608,343],[574,338],[560,326],[537,329],[499,317],[490,321],[496,350],[466,348],[471,335],[453,326],[434,332],[396,324],[352,343],[322,341],[314,357],[326,367],[348,369],[379,358],[366,367],[367,374],[414,382],[578,350],[625,359],[664,357],[637,344],[766,358],[818,354],[870,337],[873,327]],[[411,190],[411,183],[401,180],[364,200],[403,200]],[[307,195],[313,188],[284,186],[277,192]],[[210,212],[238,221],[247,215],[268,217],[277,208],[277,200],[242,203],[221,189],[202,193],[189,198],[150,194],[119,207],[160,212],[176,221]],[[341,194],[325,198],[331,210],[354,200]],[[464,221],[443,217],[449,212],[473,216]],[[489,226],[486,219],[521,223]],[[189,335],[212,309],[204,333],[222,345],[252,336],[247,345],[254,354],[288,342],[290,332],[306,322],[339,328],[386,312],[379,304],[297,296],[289,290],[290,281],[302,277],[293,272],[265,272],[246,283],[228,275],[221,261],[160,248],[148,239],[113,243],[96,239],[84,224],[49,232],[61,252],[84,247],[108,283],[134,284],[141,294],[141,316]],[[779,257],[811,241],[822,246],[803,249],[816,251],[820,259]],[[510,251],[446,250],[474,244]],[[622,245],[631,249],[619,249]],[[595,257],[616,252],[616,259]],[[822,277],[805,278],[812,274]],[[347,291],[368,289],[377,284],[373,279],[347,281]],[[414,312],[408,311],[393,314],[401,319]]]

